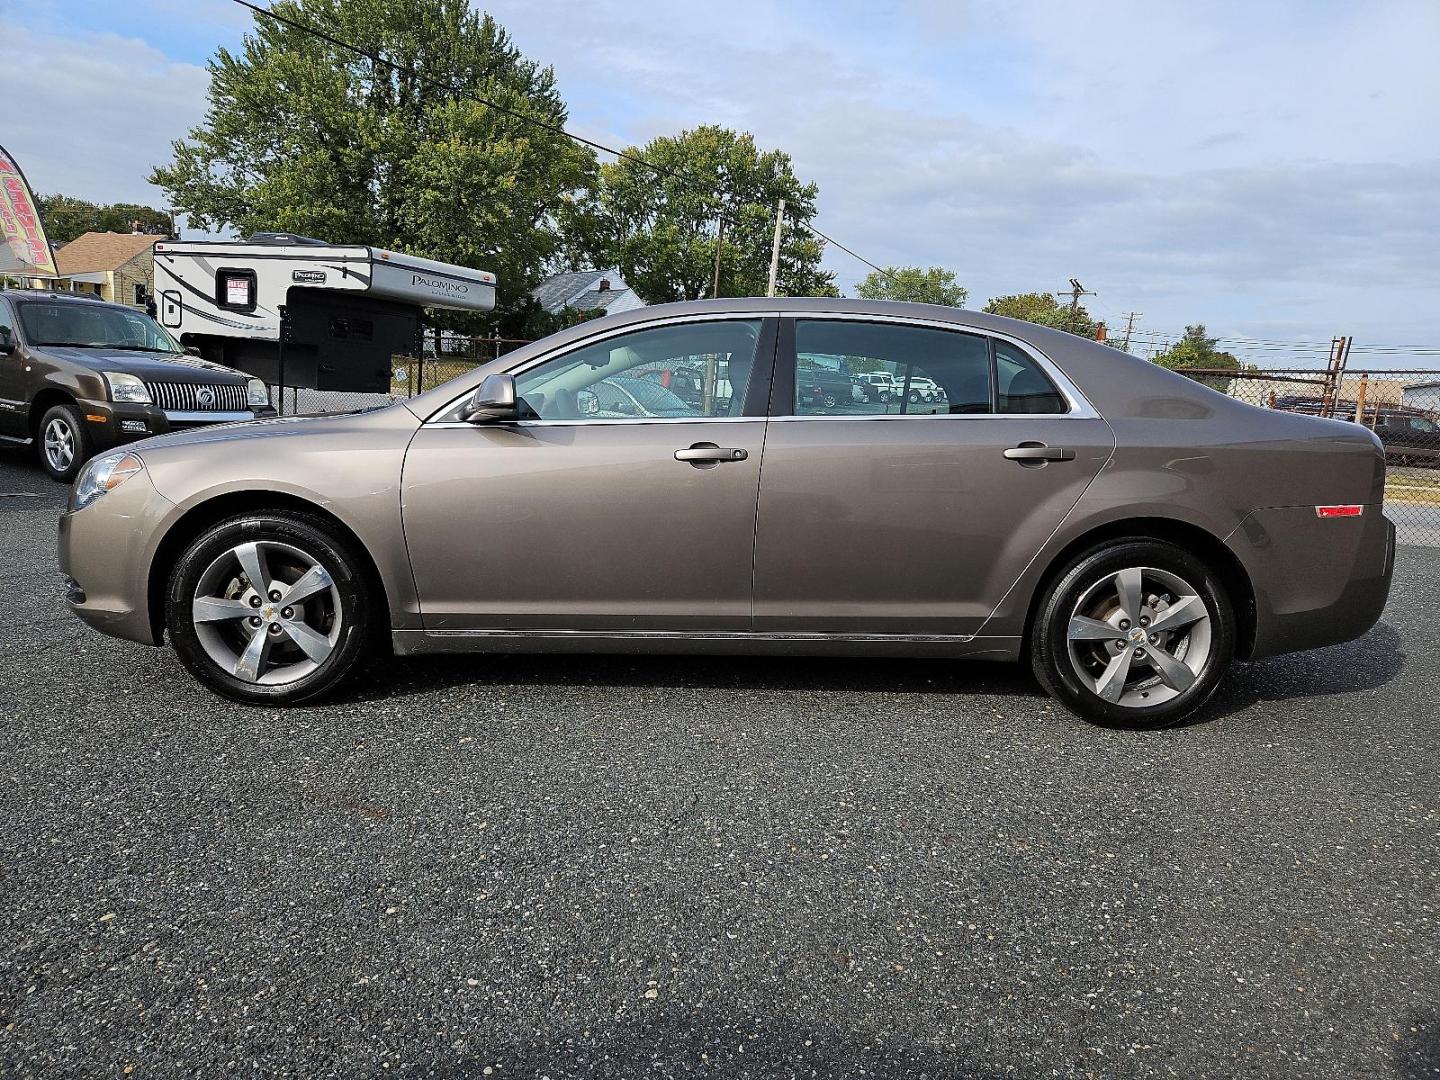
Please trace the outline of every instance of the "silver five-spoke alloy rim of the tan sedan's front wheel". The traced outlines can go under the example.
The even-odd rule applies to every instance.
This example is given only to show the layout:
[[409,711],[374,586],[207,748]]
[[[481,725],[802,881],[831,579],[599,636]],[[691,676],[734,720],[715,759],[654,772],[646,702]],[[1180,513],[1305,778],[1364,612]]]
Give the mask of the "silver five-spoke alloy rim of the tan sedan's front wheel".
[[301,680],[340,641],[340,592],[330,572],[276,540],[243,543],[212,562],[196,583],[190,612],[210,660],[246,683]]

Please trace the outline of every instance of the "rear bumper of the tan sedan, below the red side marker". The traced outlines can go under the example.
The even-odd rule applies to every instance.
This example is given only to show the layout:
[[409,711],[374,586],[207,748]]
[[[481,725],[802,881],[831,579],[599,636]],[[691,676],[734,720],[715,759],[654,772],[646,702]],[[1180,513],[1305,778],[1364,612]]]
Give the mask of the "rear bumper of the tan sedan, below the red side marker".
[[1395,526],[1378,503],[1359,517],[1315,507],[1256,510],[1227,546],[1254,588],[1250,658],[1354,641],[1380,621],[1395,569]]

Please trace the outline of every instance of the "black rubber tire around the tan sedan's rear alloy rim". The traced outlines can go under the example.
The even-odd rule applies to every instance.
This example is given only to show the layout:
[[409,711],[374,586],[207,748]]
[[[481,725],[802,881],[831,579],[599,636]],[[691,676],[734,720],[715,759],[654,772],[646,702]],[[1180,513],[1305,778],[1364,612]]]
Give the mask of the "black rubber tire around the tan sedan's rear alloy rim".
[[[1068,626],[1076,606],[1106,577],[1129,567],[1153,569],[1189,583],[1210,616],[1210,654],[1194,683],[1161,704],[1116,704],[1083,681],[1071,662]],[[1145,642],[1140,642],[1145,645]],[[1080,554],[1041,598],[1030,632],[1031,667],[1040,684],[1066,708],[1103,727],[1172,727],[1210,700],[1236,654],[1234,605],[1224,582],[1201,559],[1159,540],[1116,540]],[[1139,691],[1135,694],[1139,697]]]

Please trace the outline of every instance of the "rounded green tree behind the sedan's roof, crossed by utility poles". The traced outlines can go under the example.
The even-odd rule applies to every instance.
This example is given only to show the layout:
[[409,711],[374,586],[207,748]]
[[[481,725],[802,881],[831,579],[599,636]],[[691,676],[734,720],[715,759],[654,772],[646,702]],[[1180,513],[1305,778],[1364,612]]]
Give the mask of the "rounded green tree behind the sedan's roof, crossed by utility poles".
[[789,154],[759,151],[755,138],[706,125],[662,135],[632,158],[600,166],[593,202],[570,219],[595,265],[615,266],[649,304],[710,295],[716,220],[720,295],[763,295],[770,272],[775,206],[785,200],[776,291],[789,297],[837,295],[834,274],[819,266],[822,245],[799,223],[815,216],[815,184],[802,184]]

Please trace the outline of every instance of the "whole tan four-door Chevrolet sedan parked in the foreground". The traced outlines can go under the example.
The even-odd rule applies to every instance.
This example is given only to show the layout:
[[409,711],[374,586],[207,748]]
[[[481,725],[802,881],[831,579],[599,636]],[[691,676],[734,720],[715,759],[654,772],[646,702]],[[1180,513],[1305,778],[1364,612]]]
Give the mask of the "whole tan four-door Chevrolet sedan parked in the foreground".
[[314,700],[386,644],[1024,658],[1077,714],[1162,727],[1237,657],[1374,625],[1384,472],[1361,426],[1027,323],[724,300],[96,458],[60,563],[79,618],[168,634],[240,701]]

